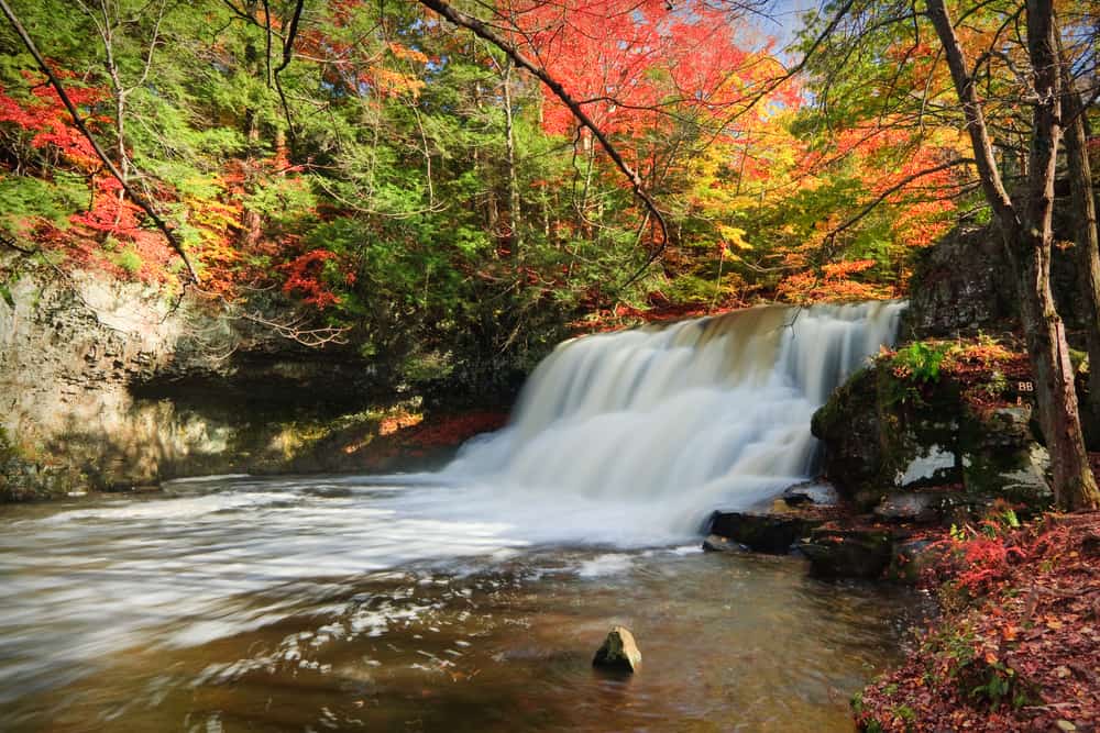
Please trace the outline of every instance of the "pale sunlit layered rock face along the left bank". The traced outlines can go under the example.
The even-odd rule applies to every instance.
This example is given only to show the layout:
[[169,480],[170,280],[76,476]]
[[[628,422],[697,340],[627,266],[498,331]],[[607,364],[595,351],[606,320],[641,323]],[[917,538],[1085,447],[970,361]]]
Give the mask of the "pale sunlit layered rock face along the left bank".
[[197,298],[24,268],[0,299],[0,500],[286,469],[374,368]]

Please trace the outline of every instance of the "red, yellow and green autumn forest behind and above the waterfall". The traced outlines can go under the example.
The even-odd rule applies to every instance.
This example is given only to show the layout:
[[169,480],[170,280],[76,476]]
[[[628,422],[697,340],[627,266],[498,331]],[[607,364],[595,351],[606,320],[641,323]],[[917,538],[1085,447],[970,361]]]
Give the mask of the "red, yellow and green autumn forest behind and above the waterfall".
[[[839,79],[839,48],[795,75],[798,49],[738,5],[499,9],[658,222],[559,98],[416,3],[86,5],[16,10],[173,242],[10,27],[9,236],[166,292],[194,267],[211,300],[286,301],[410,367],[440,347],[539,351],[620,313],[897,297],[916,251],[989,216],[946,69],[892,30]],[[1007,145],[1027,134],[1019,113],[997,110]]]

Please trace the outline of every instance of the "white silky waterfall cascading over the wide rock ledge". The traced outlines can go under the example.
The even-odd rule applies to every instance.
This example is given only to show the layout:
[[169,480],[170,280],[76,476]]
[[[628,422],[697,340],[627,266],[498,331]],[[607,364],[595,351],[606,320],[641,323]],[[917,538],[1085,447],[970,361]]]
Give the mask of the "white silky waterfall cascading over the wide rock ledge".
[[632,507],[644,517],[630,521],[653,531],[694,530],[712,509],[814,475],[814,411],[893,343],[904,307],[765,306],[568,341],[531,375],[509,425],[446,474],[492,486],[517,511]]

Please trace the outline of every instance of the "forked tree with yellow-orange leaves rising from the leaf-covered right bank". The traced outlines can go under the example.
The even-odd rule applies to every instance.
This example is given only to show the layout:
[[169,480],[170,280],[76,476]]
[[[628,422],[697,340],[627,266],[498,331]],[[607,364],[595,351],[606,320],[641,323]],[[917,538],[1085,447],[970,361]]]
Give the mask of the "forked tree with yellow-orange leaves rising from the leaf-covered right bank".
[[[926,0],[924,9],[908,2],[845,0],[829,7],[828,18],[818,23],[817,35],[809,37],[807,48],[833,51],[826,65],[833,75],[850,74],[853,58],[872,55],[887,84],[868,105],[888,109],[910,124],[923,125],[932,116],[965,131],[977,185],[1015,276],[1056,499],[1067,509],[1100,507],[1085,452],[1065,326],[1050,290],[1054,184],[1063,133],[1053,3],[972,3],[953,11],[945,0]],[[937,43],[936,64],[914,89],[902,81],[913,67],[915,49],[930,37]],[[903,53],[883,54],[891,45]],[[942,86],[937,68],[945,67],[947,85]],[[832,86],[826,84],[825,90],[827,97]],[[954,103],[945,103],[950,99]]]

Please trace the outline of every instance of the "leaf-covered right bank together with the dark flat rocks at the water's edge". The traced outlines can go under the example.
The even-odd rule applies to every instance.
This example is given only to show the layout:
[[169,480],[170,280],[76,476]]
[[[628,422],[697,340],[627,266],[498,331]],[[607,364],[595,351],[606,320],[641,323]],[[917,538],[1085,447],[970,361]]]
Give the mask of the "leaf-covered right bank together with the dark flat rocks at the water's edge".
[[915,586],[931,599],[904,662],[853,698],[860,731],[1098,730],[1100,512],[1027,513],[1004,500],[978,511],[947,486],[862,513],[835,496],[807,499],[820,488],[715,512],[703,548],[793,549],[811,577]]

